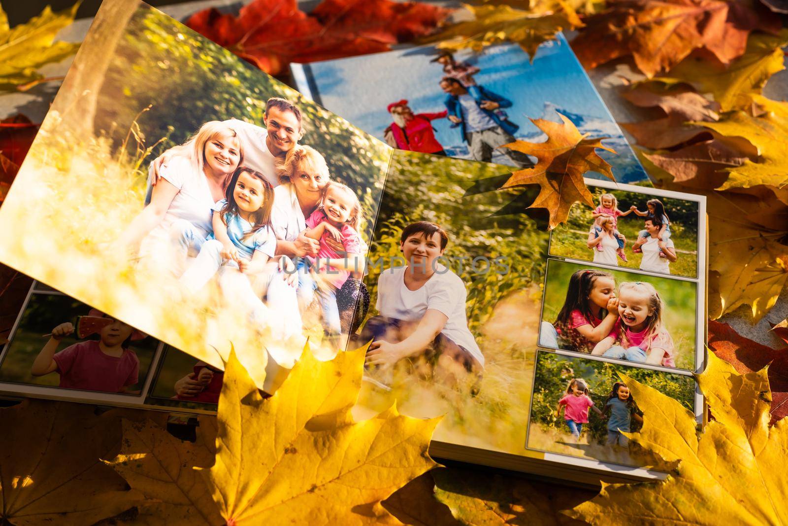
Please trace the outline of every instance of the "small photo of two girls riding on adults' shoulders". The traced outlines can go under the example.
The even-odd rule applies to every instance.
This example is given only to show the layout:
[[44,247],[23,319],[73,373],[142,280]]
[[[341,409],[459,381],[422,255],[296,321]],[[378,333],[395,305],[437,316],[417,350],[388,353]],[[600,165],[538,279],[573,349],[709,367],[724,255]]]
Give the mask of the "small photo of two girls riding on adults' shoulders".
[[551,256],[697,277],[697,201],[590,189],[596,207],[574,203],[552,231]]

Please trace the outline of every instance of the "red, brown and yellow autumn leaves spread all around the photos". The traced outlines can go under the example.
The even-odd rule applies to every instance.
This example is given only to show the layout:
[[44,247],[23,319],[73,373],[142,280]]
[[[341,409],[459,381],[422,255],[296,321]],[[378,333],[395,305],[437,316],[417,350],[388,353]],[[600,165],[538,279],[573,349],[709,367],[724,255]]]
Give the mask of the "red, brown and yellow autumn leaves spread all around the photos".
[[[587,68],[642,73],[621,95],[652,115],[625,126],[656,184],[708,196],[710,316],[749,305],[756,321],[788,279],[788,106],[762,93],[783,69],[779,9],[775,0],[512,0],[469,6],[470,18],[449,24],[449,9],[418,2],[325,0],[307,14],[294,0],[254,0],[237,16],[208,9],[188,23],[272,74],[413,39],[453,50],[514,42],[533,58],[556,31],[577,30]],[[36,69],[76,49],[53,45],[74,13],[46,9],[11,29],[0,10],[2,88],[47,80]],[[553,228],[574,203],[592,205],[585,172],[614,174],[596,153],[604,137],[567,119],[533,122],[545,143],[511,147],[537,165],[505,186],[540,185],[532,206],[548,208]],[[36,130],[21,116],[0,122],[0,204]],[[27,287],[0,270],[6,326]],[[774,331],[785,339],[786,323]],[[700,433],[677,402],[627,379],[645,420],[632,439],[668,478],[606,485],[585,503],[593,492],[434,468],[437,421],[394,407],[353,420],[361,350],[325,363],[307,350],[267,399],[231,358],[218,414],[199,417],[191,442],[165,430],[163,413],[35,400],[0,409],[0,523],[786,524],[788,485],[775,467],[788,457],[788,349],[713,321],[709,346],[699,379],[713,420]]]

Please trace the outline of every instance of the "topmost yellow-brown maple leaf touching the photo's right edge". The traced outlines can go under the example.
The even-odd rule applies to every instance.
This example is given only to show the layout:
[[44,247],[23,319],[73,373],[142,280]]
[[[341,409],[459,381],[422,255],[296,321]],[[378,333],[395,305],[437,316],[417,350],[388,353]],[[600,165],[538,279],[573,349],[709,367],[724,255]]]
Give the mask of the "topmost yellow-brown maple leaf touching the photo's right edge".
[[778,35],[755,33],[747,40],[745,53],[730,65],[691,56],[675,65],[666,76],[654,80],[693,84],[699,91],[711,93],[723,111],[742,110],[753,95],[760,94],[772,75],[785,69],[782,47],[786,43],[788,29],[782,29]]

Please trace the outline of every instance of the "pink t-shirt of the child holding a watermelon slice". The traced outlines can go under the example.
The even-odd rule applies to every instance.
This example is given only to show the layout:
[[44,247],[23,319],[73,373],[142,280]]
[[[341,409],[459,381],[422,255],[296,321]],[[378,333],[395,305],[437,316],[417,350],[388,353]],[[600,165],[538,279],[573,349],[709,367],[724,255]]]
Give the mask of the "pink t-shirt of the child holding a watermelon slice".
[[60,386],[68,389],[117,393],[137,382],[139,359],[131,349],[121,356],[107,356],[99,341],[86,340],[69,345],[53,356],[58,364]]

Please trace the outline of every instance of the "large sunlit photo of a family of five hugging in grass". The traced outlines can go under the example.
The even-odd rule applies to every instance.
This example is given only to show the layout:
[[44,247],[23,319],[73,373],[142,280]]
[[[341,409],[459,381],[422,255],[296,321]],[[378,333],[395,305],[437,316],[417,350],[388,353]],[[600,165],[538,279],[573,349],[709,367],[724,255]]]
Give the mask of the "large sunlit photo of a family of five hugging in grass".
[[344,347],[391,152],[157,9],[108,0],[0,211],[0,259],[262,376],[266,351],[286,368],[307,338]]

